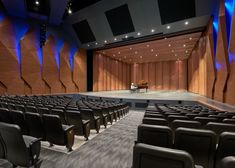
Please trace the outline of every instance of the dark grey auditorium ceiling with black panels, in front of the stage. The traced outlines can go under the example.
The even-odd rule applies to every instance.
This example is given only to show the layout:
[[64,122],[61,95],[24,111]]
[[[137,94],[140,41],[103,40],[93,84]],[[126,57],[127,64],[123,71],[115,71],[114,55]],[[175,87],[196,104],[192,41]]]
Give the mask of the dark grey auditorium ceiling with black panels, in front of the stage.
[[219,6],[219,0],[0,1],[10,15],[61,26],[86,49],[203,29]]

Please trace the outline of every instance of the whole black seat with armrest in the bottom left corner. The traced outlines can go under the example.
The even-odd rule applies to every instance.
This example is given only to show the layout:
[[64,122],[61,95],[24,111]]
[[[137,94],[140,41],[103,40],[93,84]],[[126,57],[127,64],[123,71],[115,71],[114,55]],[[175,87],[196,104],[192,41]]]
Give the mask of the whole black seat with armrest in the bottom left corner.
[[13,167],[40,167],[40,139],[22,136],[19,126],[7,123],[0,123],[0,134],[6,149],[6,159]]

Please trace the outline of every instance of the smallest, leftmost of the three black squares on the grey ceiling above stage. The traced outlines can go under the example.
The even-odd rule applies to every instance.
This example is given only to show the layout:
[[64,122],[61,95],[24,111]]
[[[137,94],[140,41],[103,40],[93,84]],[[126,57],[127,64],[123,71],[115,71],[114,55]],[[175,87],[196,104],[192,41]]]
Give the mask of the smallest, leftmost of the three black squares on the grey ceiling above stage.
[[73,28],[81,41],[81,43],[89,43],[96,41],[95,36],[87,22],[87,20],[80,21],[73,24]]

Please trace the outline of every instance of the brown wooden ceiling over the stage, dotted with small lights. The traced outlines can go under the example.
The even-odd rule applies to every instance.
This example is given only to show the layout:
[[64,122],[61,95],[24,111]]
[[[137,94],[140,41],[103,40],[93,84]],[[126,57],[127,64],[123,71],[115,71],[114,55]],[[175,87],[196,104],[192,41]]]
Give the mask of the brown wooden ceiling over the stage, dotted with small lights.
[[201,32],[163,38],[139,44],[97,51],[129,64],[157,61],[183,60],[191,54]]

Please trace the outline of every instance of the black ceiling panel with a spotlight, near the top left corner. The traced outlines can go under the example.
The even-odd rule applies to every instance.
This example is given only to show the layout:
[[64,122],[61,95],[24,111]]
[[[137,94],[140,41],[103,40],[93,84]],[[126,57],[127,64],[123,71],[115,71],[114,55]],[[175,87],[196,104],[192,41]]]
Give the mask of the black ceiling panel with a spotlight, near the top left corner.
[[35,0],[26,0],[27,10],[29,12],[49,16],[50,15],[50,3],[48,0],[40,0],[40,5],[35,4]]

